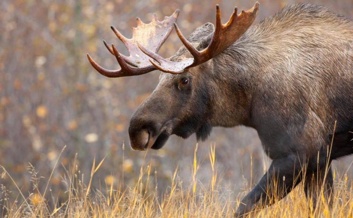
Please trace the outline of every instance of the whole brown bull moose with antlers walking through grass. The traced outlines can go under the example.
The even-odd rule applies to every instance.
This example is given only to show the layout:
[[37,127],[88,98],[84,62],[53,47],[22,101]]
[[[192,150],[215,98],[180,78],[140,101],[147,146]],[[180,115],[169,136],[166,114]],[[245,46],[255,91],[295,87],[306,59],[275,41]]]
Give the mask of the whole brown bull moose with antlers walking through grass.
[[[215,26],[203,24],[188,38],[176,24],[179,10],[163,21],[154,14],[148,24],[137,18],[131,39],[112,26],[130,53],[103,41],[119,70],[87,54],[106,77],[162,72],[131,118],[134,150],[160,149],[172,134],[205,140],[215,126],[257,130],[273,161],[235,217],[273,204],[300,182],[314,207],[318,187],[329,201],[330,163],[353,153],[353,21],[324,6],[295,4],[252,25],[258,10],[258,2],[240,14],[235,8],[223,24],[217,5]],[[157,52],[173,27],[183,46],[165,59]]]

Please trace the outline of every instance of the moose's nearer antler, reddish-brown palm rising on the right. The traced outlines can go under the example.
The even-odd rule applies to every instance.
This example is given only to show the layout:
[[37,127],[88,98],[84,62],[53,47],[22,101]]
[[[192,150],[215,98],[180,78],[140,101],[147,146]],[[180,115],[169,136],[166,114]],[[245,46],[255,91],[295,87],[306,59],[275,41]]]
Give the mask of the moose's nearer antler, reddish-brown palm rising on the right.
[[202,51],[198,51],[194,48],[189,41],[181,33],[178,25],[174,23],[175,30],[183,42],[184,46],[189,50],[192,58],[185,59],[183,61],[174,62],[164,59],[155,52],[143,46],[143,44],[138,44],[138,47],[148,56],[152,57],[154,60],[150,60],[151,63],[160,71],[172,74],[180,74],[185,71],[185,69],[190,67],[195,67],[204,63],[217,54],[221,53],[223,50],[231,46],[235,41],[237,41],[241,35],[251,26],[256,18],[259,8],[259,2],[248,11],[242,10],[239,15],[237,15],[237,7],[235,7],[234,12],[229,18],[226,24],[221,23],[221,11],[219,5],[216,6],[216,28],[213,33],[213,37],[208,47]]

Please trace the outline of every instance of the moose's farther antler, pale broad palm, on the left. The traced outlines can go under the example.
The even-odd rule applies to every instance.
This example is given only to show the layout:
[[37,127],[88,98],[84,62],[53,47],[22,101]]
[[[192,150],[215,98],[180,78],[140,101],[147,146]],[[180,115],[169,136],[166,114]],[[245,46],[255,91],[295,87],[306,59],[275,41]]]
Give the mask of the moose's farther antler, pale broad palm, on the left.
[[104,69],[87,54],[89,62],[99,73],[107,77],[140,75],[155,70],[156,68],[149,61],[149,56],[141,52],[138,45],[140,44],[156,54],[173,30],[173,23],[177,21],[178,15],[179,10],[176,10],[170,17],[165,17],[164,20],[160,22],[157,19],[157,14],[153,14],[152,21],[148,24],[143,23],[140,18],[137,17],[137,27],[132,28],[131,39],[125,38],[117,29],[111,26],[110,28],[112,28],[115,35],[125,44],[130,56],[127,57],[120,54],[114,44],[110,47],[106,41],[103,40],[109,52],[116,57],[121,69]]

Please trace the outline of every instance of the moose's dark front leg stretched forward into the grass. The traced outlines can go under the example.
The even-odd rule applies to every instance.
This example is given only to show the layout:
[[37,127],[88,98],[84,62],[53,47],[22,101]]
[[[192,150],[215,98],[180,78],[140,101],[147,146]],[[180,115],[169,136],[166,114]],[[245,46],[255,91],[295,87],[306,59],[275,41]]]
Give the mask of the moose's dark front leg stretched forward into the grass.
[[301,165],[296,155],[274,159],[255,188],[241,200],[234,217],[244,217],[251,211],[285,197],[300,182],[300,170]]

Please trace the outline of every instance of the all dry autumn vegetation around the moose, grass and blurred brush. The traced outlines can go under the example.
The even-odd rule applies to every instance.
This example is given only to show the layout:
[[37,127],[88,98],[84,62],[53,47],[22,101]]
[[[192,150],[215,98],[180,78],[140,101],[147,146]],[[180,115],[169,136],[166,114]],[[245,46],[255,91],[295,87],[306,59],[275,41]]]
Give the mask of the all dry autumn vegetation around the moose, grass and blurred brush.
[[[296,1],[260,0],[255,22]],[[188,35],[214,21],[215,4],[225,19],[233,6],[250,8],[255,0],[204,2],[0,1],[0,216],[231,217],[269,165],[256,132],[216,128],[199,144],[197,162],[194,137],[171,137],[158,151],[123,150],[129,118],[156,86],[158,73],[113,80],[86,59],[89,52],[102,66],[117,68],[101,41],[118,42],[110,25],[129,37],[136,16],[148,22],[153,12],[163,18],[180,8],[178,24]],[[311,2],[353,14],[351,0]],[[173,31],[160,54],[172,55],[180,45]],[[94,157],[105,159],[91,176]],[[254,217],[352,217],[350,164],[351,158],[334,162],[332,211],[322,206],[310,212],[299,187]]]

